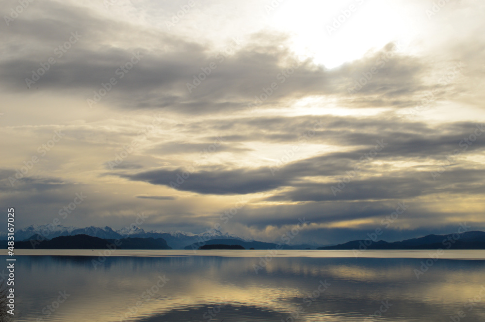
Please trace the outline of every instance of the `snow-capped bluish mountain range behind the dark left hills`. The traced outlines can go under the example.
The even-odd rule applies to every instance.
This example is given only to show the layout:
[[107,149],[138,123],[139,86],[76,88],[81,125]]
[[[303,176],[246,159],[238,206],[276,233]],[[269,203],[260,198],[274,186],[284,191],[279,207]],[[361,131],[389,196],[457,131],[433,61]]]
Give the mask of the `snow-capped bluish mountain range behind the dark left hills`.
[[[138,238],[163,238],[169,246],[174,249],[183,249],[183,247],[187,245],[192,245],[198,242],[208,241],[210,239],[238,239],[245,242],[253,241],[250,238],[237,236],[234,234],[229,234],[226,232],[222,232],[220,230],[206,230],[199,234],[194,234],[192,232],[185,232],[181,230],[165,232],[165,231],[146,231],[142,228],[132,226],[132,227],[124,227],[120,230],[113,230],[111,227],[85,227],[85,228],[78,228],[78,227],[65,227],[61,225],[31,225],[21,230],[17,230],[15,232],[16,240],[25,240],[32,237],[35,234],[39,234],[41,236],[46,237],[47,239],[52,239],[59,236],[73,236],[79,234],[85,234],[93,237],[98,238],[106,238],[106,239],[120,239],[125,237],[138,237]],[[5,240],[7,239],[6,233],[0,233],[0,239]]]

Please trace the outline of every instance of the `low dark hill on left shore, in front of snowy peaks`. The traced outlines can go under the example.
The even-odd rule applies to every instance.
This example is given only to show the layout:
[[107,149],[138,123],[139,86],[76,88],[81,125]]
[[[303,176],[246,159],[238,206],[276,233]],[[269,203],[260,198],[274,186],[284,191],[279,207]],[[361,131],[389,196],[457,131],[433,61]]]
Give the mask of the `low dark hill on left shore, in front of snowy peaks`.
[[[88,235],[60,236],[42,240],[34,235],[29,240],[16,242],[20,249],[172,249],[163,238],[103,239]],[[1,244],[6,245],[6,241]],[[115,248],[113,248],[115,247]]]

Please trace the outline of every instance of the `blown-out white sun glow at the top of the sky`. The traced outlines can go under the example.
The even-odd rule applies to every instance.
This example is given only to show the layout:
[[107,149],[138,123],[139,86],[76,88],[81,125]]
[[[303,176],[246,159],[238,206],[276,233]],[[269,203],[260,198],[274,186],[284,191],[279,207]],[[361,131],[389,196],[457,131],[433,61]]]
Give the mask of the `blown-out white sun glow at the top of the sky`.
[[280,7],[271,25],[293,36],[297,54],[326,68],[359,59],[390,42],[407,42],[417,28],[410,23],[410,10],[403,12],[385,1],[288,1]]

